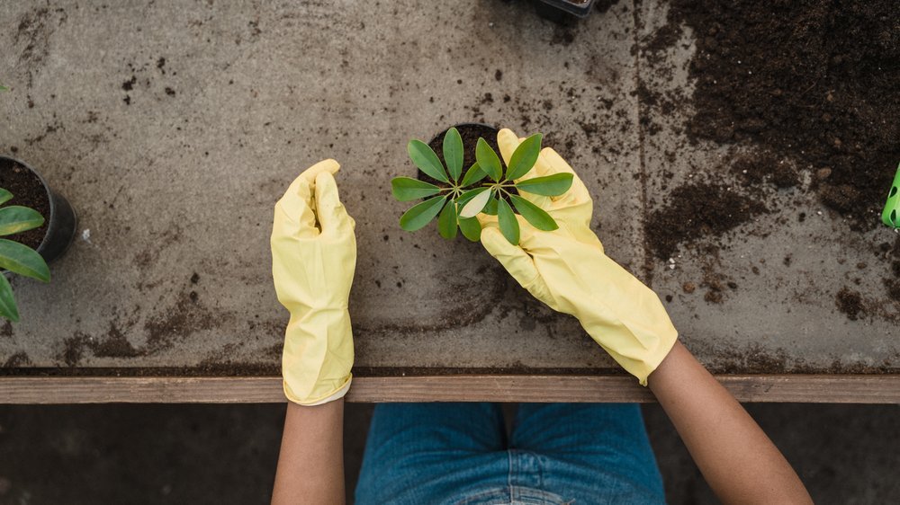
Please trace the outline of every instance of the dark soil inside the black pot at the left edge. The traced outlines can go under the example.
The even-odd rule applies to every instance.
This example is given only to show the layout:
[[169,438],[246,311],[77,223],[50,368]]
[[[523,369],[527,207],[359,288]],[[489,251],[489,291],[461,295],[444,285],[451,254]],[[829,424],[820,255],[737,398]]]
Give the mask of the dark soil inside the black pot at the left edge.
[[22,205],[33,208],[44,217],[44,224],[40,227],[3,238],[25,244],[31,249],[37,249],[47,233],[50,218],[50,201],[40,179],[21,164],[0,158],[0,188],[13,193],[13,199],[4,205]]

